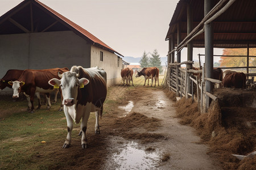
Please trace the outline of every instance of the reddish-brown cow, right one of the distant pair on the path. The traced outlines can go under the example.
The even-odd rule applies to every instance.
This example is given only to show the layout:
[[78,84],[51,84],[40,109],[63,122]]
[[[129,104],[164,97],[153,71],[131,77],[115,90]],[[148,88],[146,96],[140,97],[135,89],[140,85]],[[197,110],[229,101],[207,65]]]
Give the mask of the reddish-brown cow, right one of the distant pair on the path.
[[[142,75],[145,78],[143,86],[145,86],[147,79],[148,80],[151,79],[152,80],[151,87],[152,87],[154,78],[155,78],[155,86],[156,86],[156,80],[158,80],[158,86],[159,86],[159,69],[158,69],[158,67],[144,67],[141,71],[137,71],[137,74],[135,75],[135,77],[139,77]],[[149,86],[148,81],[147,81],[147,86]]]

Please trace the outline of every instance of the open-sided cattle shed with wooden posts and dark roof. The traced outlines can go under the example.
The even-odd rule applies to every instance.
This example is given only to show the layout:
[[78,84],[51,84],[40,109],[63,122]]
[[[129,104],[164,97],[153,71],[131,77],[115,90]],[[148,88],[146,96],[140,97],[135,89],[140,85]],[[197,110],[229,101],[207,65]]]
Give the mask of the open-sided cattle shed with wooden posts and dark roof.
[[[177,3],[166,35],[166,41],[169,41],[168,63],[170,66],[174,66],[175,62],[182,63],[181,50],[186,47],[187,62],[184,63],[187,70],[192,69],[192,61],[197,57],[193,56],[193,48],[205,48],[205,84],[203,84],[205,86],[200,87],[204,88],[204,94],[207,94],[205,110],[209,107],[211,99],[215,99],[212,96],[214,48],[247,49],[247,55],[242,56],[246,58],[247,66],[243,68],[246,69],[247,77],[255,76],[255,73],[249,74],[250,70],[256,68],[249,63],[249,58],[256,57],[249,55],[250,48],[256,47],[255,6],[254,0],[180,0]],[[187,71],[184,74],[186,74],[184,78],[187,78]],[[178,78],[170,80],[170,88],[175,88],[177,95],[183,92],[191,95],[190,79],[185,80],[187,85],[182,90],[179,81]],[[172,85],[175,83],[178,84],[174,85],[176,87]],[[188,97],[189,94],[185,96]]]

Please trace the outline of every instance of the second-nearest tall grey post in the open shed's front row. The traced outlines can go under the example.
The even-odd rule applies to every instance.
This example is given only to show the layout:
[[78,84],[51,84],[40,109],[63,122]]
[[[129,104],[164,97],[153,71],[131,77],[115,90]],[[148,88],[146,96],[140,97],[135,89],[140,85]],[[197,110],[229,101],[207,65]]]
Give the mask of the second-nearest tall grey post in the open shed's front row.
[[[189,3],[187,3],[187,35],[189,35],[189,33],[191,33],[193,29],[193,12],[192,12],[192,8],[191,5]],[[188,53],[187,53],[187,60],[188,61],[193,61],[193,43],[192,41],[188,42],[187,44],[187,49],[188,49]],[[191,64],[187,64],[186,65],[187,69],[192,69],[192,63]],[[189,76],[187,77],[187,94],[191,94],[192,90],[191,90],[191,80],[189,79]],[[186,98],[188,98],[188,95],[186,94]]]

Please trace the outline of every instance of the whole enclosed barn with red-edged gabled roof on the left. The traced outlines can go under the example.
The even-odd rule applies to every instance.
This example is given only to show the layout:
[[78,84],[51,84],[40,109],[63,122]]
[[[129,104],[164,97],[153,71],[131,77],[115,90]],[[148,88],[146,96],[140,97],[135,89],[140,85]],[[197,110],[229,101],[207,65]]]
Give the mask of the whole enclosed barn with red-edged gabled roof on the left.
[[9,69],[99,66],[109,87],[121,80],[122,57],[38,0],[24,0],[0,17],[1,78]]

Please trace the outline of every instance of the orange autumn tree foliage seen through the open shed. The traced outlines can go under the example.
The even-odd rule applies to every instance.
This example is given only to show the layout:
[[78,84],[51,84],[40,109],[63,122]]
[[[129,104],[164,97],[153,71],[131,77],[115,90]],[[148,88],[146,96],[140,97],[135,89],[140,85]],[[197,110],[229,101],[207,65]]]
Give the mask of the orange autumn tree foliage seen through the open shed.
[[[256,48],[249,49],[249,56],[256,56]],[[247,49],[224,49],[222,52],[225,56],[246,56]],[[220,57],[221,67],[245,67],[247,66],[247,57]],[[256,58],[249,57],[249,66],[256,66]]]

